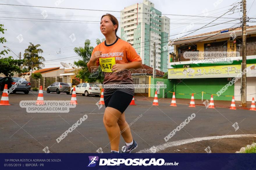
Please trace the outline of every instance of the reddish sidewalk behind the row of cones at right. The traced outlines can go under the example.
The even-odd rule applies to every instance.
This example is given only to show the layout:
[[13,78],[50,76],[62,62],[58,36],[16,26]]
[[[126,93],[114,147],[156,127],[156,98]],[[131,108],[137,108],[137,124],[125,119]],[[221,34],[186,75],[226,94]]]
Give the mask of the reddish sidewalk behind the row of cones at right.
[[[134,96],[134,100],[153,102],[154,97]],[[176,98],[176,103],[177,104],[189,105],[190,104],[190,100],[191,99]],[[208,100],[210,102],[210,99],[208,99]],[[171,98],[158,98],[158,103],[171,103],[171,101],[172,101]],[[203,99],[203,101],[200,100],[200,99],[195,99],[195,105],[204,106],[204,104],[203,104],[204,101],[205,101],[205,99]],[[237,109],[246,109],[247,110],[247,109],[250,109],[252,102],[247,102],[247,107],[246,108],[239,107],[239,105],[241,105],[240,101],[235,101],[235,103],[236,103],[236,108]],[[230,101],[214,100],[214,107],[230,108],[230,105],[231,105],[231,100]]]

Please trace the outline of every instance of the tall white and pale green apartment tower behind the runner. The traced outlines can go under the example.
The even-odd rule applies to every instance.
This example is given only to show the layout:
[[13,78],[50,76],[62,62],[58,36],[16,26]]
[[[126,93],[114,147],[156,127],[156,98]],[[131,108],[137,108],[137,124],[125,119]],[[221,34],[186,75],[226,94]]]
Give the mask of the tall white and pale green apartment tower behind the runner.
[[[153,67],[153,44],[156,43],[156,69],[168,69],[170,18],[162,16],[154,3],[143,0],[121,10],[121,39],[131,43],[142,63]],[[165,71],[165,72],[166,72]]]

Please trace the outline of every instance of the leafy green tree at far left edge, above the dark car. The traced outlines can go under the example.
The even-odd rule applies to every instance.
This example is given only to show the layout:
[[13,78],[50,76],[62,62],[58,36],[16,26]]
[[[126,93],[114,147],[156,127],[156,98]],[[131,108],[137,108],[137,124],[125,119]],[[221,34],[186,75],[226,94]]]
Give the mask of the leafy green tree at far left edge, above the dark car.
[[[4,34],[6,29],[4,26],[0,24],[0,33]],[[6,39],[4,37],[0,38],[0,43],[6,43]],[[10,50],[3,50],[0,52],[0,73],[3,73],[5,76],[13,76],[14,72],[21,73],[22,70],[19,68],[22,65],[23,60],[15,60],[12,56],[3,58],[1,55],[8,54]]]

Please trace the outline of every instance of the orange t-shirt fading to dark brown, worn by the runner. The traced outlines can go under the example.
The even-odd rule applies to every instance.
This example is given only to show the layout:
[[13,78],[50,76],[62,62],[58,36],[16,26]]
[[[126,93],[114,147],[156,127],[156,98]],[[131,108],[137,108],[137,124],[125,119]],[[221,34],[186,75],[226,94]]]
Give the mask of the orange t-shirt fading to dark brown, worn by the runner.
[[[92,56],[95,51],[102,51],[102,59],[109,59],[115,61],[116,64],[125,64],[133,61],[141,61],[141,57],[137,54],[136,50],[131,46],[131,44],[118,39],[110,45],[106,44],[106,41],[97,45],[92,52]],[[99,59],[96,61],[97,66],[100,65]],[[102,66],[102,65],[100,65]],[[112,66],[111,66],[112,67]],[[105,68],[105,67],[104,67]],[[110,68],[110,67],[109,67]],[[127,70],[125,72],[102,72],[104,74],[103,84],[134,84],[131,78],[131,71]],[[110,95],[116,89],[104,89],[104,95]],[[126,92],[128,94],[134,95],[134,89],[118,89],[118,91]]]

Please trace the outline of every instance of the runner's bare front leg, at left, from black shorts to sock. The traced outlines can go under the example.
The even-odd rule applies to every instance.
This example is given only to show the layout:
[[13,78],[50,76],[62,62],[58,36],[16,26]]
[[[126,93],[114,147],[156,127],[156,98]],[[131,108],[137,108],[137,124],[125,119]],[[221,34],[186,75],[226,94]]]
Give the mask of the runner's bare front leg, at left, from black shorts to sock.
[[117,109],[106,107],[103,116],[103,123],[109,136],[112,151],[119,150],[120,129],[117,122],[120,116],[121,112]]

